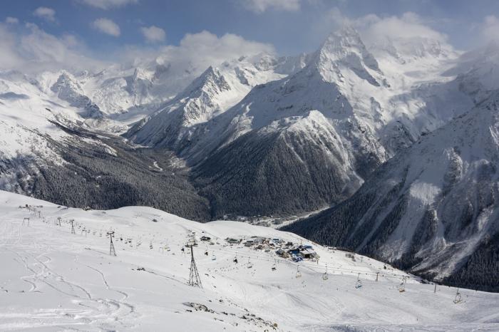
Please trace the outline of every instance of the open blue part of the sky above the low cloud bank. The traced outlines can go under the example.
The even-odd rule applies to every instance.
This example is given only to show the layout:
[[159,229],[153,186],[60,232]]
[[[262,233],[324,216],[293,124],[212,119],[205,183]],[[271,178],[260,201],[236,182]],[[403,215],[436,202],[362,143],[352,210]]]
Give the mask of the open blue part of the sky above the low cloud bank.
[[[173,45],[178,45],[185,33],[207,30],[219,36],[236,33],[254,41],[272,43],[279,53],[286,54],[310,51],[317,47],[324,35],[314,36],[314,31],[310,31],[310,28],[317,24],[324,12],[334,7],[351,18],[366,14],[399,16],[411,11],[428,20],[428,25],[446,33],[451,43],[458,48],[468,48],[475,43],[473,36],[477,31],[472,31],[473,25],[480,24],[485,16],[499,16],[499,1],[493,0],[297,1],[300,4],[296,10],[268,6],[264,11],[255,11],[248,5],[249,2],[251,1],[138,0],[101,9],[78,0],[24,0],[5,1],[2,12],[5,17],[15,17],[21,22],[34,22],[55,35],[73,33],[88,46],[103,51],[123,44],[145,43],[140,27],[158,26],[166,33],[165,42]],[[56,21],[46,21],[43,17],[34,16],[33,12],[38,7],[53,9]],[[118,24],[120,36],[113,38],[91,28],[91,21],[99,18],[110,19]],[[324,34],[324,31],[321,33]]]

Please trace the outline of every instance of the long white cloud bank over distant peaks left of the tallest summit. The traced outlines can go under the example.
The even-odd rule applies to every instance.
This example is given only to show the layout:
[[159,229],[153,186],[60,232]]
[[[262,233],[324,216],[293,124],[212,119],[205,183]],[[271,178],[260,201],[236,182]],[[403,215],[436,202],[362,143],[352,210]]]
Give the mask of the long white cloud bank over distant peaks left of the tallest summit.
[[[0,49],[0,71],[100,71],[110,65],[110,61],[97,60],[96,51],[89,50],[76,36],[53,36],[32,23],[21,31],[0,23]],[[274,54],[275,50],[270,44],[248,41],[232,33],[217,36],[202,31],[187,33],[178,46],[123,46],[101,56],[125,66],[147,66],[151,62],[170,66],[169,77],[178,77],[179,88],[183,88],[209,66],[259,53]]]

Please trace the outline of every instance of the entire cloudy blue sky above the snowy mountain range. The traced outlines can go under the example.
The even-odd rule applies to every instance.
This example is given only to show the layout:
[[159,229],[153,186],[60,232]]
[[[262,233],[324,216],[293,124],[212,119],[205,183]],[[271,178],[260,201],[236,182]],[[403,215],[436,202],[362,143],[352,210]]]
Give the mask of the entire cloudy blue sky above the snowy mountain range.
[[[461,50],[499,36],[495,0],[24,0],[4,1],[2,14],[0,46],[10,45],[13,54],[4,63],[14,63],[16,56],[33,56],[35,46],[29,43],[48,48],[46,42],[41,45],[43,38],[53,38],[51,47],[61,43],[60,57],[68,48],[112,61],[124,53],[131,57],[179,46],[187,33],[197,36],[201,31],[216,38],[227,33],[241,38],[237,43],[227,38],[226,48],[272,48],[279,55],[293,55],[313,51],[345,21],[366,30],[373,22],[390,19],[396,20],[391,28],[400,31],[411,31],[416,24],[426,30],[416,28],[413,33],[441,33],[442,39]],[[404,25],[408,21],[411,26]],[[30,33],[31,41],[26,41]],[[212,48],[218,47],[218,40],[210,38],[191,42],[215,42]]]

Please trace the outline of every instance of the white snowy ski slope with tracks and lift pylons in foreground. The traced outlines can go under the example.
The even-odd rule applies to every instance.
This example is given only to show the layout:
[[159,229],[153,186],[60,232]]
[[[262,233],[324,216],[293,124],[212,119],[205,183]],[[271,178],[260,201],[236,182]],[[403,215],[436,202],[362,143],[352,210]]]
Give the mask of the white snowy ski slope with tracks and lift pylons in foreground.
[[[369,257],[353,261],[312,244],[319,262],[298,267],[225,241],[309,244],[267,227],[200,224],[148,207],[83,211],[9,192],[0,192],[0,211],[0,331],[499,330],[499,294],[461,289],[454,304],[456,289],[433,293],[433,284]],[[109,255],[110,229],[117,256]],[[202,289],[187,286],[190,249],[181,249],[192,232]]]

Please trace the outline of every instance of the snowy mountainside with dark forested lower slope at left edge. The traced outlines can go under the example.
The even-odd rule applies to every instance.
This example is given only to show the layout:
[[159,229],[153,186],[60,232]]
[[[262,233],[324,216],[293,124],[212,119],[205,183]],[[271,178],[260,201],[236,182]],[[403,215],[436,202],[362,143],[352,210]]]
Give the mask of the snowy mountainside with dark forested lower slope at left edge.
[[0,76],[2,190],[76,207],[145,204],[210,219],[205,199],[175,157],[130,147],[103,132],[115,130],[106,118],[87,116],[95,104],[81,95],[71,74],[42,78]]

